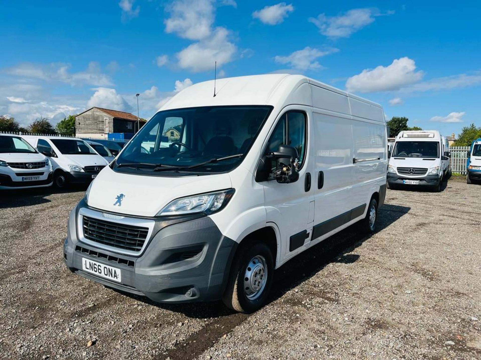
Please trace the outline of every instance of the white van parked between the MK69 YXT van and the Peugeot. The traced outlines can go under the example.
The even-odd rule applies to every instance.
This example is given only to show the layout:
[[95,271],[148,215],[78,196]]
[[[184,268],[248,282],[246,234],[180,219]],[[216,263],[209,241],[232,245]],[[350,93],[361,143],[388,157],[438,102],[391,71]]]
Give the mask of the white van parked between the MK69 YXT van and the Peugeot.
[[89,183],[108,165],[107,160],[82,139],[37,135],[24,135],[24,138],[49,156],[53,183],[58,188],[70,183]]

